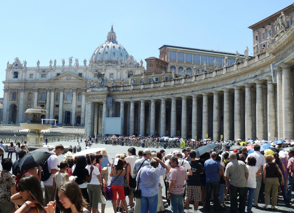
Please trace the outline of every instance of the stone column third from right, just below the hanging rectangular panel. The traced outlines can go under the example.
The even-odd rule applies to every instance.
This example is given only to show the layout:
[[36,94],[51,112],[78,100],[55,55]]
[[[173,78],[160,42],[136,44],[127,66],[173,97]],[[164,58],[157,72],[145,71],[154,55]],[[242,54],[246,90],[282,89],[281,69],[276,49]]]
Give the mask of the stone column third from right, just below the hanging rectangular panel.
[[[275,85],[268,78],[268,141],[276,137]],[[270,136],[269,136],[270,135]]]

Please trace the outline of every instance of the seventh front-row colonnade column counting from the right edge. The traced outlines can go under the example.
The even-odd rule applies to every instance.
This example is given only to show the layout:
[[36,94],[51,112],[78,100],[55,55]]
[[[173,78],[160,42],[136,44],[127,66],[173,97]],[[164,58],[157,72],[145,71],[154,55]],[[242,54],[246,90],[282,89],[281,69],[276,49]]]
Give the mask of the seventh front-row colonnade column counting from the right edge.
[[230,140],[230,90],[223,90],[223,140]]

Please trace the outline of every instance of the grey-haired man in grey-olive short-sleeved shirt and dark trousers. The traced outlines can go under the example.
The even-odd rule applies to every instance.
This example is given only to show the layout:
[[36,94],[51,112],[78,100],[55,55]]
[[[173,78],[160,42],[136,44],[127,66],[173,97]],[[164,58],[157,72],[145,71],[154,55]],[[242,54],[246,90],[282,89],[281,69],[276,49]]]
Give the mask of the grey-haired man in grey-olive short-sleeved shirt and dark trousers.
[[[229,155],[230,161],[225,167],[225,177],[230,181],[231,208],[230,212],[239,213],[245,212],[246,206],[246,185],[249,175],[249,170],[243,161],[237,160],[234,152]],[[239,193],[239,208],[238,208],[238,193]]]

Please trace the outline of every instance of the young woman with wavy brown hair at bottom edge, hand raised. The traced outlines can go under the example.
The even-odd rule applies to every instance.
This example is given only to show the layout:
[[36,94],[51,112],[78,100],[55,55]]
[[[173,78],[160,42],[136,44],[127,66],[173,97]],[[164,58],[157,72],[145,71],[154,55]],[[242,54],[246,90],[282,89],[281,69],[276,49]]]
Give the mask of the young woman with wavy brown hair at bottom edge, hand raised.
[[87,211],[87,202],[83,198],[78,185],[73,181],[66,181],[56,190],[55,201],[50,202],[44,208],[48,213],[54,213],[56,205],[63,213],[91,213]]

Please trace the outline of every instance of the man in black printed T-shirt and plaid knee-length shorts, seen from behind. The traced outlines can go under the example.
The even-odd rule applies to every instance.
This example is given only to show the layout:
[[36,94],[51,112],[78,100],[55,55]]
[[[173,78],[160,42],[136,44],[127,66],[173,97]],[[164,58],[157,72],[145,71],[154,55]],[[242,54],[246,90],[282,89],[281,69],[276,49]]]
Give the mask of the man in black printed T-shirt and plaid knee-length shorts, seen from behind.
[[[186,185],[186,197],[185,197],[185,206],[186,212],[189,212],[190,201],[194,201],[194,213],[198,211],[198,205],[201,201],[201,178],[200,175],[203,174],[203,167],[201,163],[196,161],[196,152],[194,150],[189,152],[191,161],[189,165],[192,170],[192,175],[188,175],[187,185]],[[196,211],[196,212],[195,212]]]

